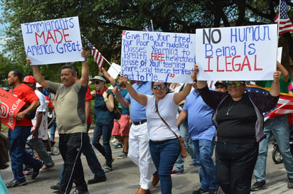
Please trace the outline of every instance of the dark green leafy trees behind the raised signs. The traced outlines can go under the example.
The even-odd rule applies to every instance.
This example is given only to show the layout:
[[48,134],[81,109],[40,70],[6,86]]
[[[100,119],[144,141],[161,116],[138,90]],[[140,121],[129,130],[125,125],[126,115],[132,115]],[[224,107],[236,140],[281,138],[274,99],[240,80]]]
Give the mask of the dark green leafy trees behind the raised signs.
[[[2,0],[4,13],[0,21],[10,23],[5,28],[9,37],[5,51],[10,53],[14,64],[23,65],[26,58],[21,23],[69,16],[78,16],[81,33],[107,60],[119,64],[123,30],[143,31],[151,25],[151,20],[155,31],[179,33],[230,26],[230,21],[235,21],[236,26],[251,25],[250,17],[262,18],[256,23],[274,23],[278,4],[279,0]],[[89,64],[91,74],[97,75],[97,65],[92,59]],[[80,63],[77,65],[80,67]],[[59,66],[42,65],[41,71],[48,79],[58,80],[55,68]],[[29,67],[24,69],[31,71]]]

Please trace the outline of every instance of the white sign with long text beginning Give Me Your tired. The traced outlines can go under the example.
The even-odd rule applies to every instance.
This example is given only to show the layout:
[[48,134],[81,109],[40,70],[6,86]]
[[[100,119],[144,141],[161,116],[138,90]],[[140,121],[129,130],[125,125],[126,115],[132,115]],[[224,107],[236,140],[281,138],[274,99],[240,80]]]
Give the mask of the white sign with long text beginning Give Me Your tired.
[[195,34],[123,31],[121,74],[129,80],[192,83],[195,55]]

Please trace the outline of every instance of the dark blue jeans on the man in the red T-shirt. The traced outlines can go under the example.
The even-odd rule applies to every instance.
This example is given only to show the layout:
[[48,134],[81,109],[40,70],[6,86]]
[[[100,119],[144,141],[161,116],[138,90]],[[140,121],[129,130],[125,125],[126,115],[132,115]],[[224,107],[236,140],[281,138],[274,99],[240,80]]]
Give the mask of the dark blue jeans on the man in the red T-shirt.
[[26,166],[38,165],[39,161],[34,159],[25,150],[26,140],[31,134],[31,126],[16,126],[14,130],[9,129],[9,155],[11,158],[11,169],[14,173],[14,180],[21,180],[23,175],[23,163]]

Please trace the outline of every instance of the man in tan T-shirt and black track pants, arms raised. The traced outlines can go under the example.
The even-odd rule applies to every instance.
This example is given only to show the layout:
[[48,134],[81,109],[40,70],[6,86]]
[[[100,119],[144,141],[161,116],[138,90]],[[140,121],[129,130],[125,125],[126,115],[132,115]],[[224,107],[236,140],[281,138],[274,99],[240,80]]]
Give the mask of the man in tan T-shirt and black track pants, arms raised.
[[[85,94],[89,69],[87,66],[87,53],[82,50],[82,72],[80,80],[78,71],[73,65],[64,65],[61,70],[61,83],[45,80],[38,70],[37,65],[31,65],[33,76],[37,82],[51,92],[55,93],[56,122],[59,131],[59,149],[64,160],[64,172],[60,183],[59,194],[68,194],[73,185],[76,184],[75,194],[87,194],[87,183],[83,173],[80,154],[82,142],[87,136],[85,119]],[[31,60],[27,58],[28,65]]]

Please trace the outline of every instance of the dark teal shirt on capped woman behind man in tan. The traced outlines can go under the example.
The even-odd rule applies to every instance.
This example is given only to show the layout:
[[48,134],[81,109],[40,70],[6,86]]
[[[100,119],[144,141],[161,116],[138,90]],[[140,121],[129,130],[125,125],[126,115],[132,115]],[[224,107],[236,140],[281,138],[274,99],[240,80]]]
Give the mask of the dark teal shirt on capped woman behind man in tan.
[[[108,90],[107,97],[109,97],[110,94],[112,94],[112,91]],[[101,124],[114,122],[114,113],[107,109],[106,102],[102,95],[97,95],[95,97],[95,121]]]

